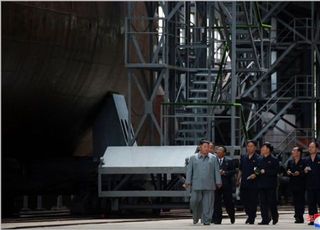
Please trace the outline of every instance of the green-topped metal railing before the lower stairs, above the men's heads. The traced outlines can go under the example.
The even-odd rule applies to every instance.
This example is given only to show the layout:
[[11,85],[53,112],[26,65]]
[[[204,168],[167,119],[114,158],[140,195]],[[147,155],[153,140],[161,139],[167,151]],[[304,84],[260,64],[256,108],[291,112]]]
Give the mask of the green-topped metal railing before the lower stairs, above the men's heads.
[[[229,107],[236,107],[236,116],[232,117],[229,114],[221,115],[219,112]],[[200,139],[208,138],[215,139],[215,128],[228,129],[231,119],[236,120],[236,145],[241,145],[241,138],[245,135],[242,129],[242,108],[240,104],[227,103],[163,103],[161,106],[161,130],[163,131],[163,145],[169,145],[172,140],[169,140],[169,122],[173,123],[175,129],[175,137],[182,140],[182,144],[197,144]],[[187,123],[189,126],[182,127]],[[219,125],[220,124],[220,125]],[[188,134],[190,133],[190,135]],[[180,136],[177,136],[180,135]],[[183,141],[184,140],[184,141]],[[230,140],[225,141],[227,144]]]

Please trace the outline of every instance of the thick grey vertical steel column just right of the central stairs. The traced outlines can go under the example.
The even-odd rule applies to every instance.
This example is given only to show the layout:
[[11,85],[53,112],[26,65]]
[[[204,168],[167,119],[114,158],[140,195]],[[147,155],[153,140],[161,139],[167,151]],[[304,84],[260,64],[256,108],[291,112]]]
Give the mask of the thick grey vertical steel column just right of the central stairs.
[[[236,79],[236,32],[237,32],[237,3],[232,2],[232,25],[231,25],[231,101],[236,102],[237,79]],[[236,108],[231,107],[231,156],[234,154],[236,145]]]

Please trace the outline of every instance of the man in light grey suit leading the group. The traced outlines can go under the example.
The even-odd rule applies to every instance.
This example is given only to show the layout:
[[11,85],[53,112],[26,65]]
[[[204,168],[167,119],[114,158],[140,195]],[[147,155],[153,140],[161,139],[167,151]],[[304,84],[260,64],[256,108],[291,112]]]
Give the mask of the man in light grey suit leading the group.
[[187,166],[185,187],[191,187],[190,208],[193,223],[197,224],[201,218],[204,225],[210,225],[214,192],[221,187],[221,175],[216,157],[209,153],[209,141],[200,141],[199,153],[190,157]]

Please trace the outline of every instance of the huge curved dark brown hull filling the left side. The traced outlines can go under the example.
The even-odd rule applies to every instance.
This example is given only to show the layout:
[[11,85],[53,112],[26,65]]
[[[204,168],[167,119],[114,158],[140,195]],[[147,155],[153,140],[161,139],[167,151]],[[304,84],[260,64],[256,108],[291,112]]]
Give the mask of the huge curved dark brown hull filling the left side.
[[1,5],[2,194],[10,213],[17,196],[96,189],[91,127],[108,92],[127,93],[127,3]]

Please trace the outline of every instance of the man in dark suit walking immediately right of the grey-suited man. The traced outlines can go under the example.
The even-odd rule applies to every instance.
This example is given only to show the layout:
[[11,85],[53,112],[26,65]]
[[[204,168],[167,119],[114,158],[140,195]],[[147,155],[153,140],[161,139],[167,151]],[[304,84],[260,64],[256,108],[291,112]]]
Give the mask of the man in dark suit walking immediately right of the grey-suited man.
[[229,215],[231,224],[235,222],[235,210],[232,197],[232,190],[234,185],[235,167],[233,160],[226,157],[226,148],[224,146],[217,149],[217,160],[219,162],[220,175],[222,179],[222,187],[215,191],[214,212],[212,222],[221,224],[222,222],[222,199]]

